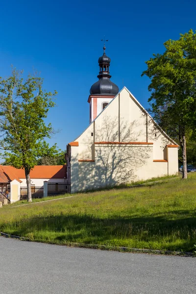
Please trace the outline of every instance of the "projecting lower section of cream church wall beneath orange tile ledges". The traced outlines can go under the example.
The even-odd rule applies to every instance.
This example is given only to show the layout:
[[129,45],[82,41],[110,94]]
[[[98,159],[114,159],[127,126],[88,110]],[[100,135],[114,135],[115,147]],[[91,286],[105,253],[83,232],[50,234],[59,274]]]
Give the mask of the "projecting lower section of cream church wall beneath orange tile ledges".
[[168,174],[167,162],[153,162],[152,145],[98,145],[95,162],[79,162],[78,190],[146,180]]

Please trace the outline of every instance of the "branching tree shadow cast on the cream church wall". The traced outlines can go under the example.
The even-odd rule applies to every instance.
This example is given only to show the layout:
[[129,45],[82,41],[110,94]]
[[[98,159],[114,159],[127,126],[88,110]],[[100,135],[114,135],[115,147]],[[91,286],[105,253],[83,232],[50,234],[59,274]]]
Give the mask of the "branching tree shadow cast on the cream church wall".
[[[139,123],[124,122],[118,117],[106,116],[101,127],[96,125],[95,142],[140,142],[144,130],[138,130]],[[119,134],[120,128],[120,134]],[[138,180],[137,171],[146,164],[151,156],[152,147],[145,145],[123,144],[92,144],[84,140],[84,151],[81,158],[86,158],[91,147],[91,156],[95,162],[80,162],[79,190],[92,189],[102,186],[113,186]],[[74,181],[74,167],[72,167]]]

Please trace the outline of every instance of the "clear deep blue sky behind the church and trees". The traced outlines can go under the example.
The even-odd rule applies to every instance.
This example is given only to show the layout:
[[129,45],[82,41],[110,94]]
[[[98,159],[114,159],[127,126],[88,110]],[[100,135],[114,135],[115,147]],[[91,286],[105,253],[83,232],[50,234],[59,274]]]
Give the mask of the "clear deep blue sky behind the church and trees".
[[47,122],[61,130],[49,141],[61,149],[89,124],[87,99],[104,35],[111,80],[148,107],[145,61],[162,53],[168,39],[196,30],[195,0],[9,0],[0,12],[0,76],[10,74],[11,64],[25,74],[34,68],[47,91],[58,91]]

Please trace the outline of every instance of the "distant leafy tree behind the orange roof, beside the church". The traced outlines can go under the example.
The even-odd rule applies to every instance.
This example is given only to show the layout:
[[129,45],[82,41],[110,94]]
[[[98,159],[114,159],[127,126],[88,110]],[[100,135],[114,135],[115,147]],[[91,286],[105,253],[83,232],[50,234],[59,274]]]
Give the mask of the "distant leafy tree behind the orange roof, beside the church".
[[[59,150],[60,151],[60,150]],[[38,159],[37,165],[64,165],[66,151],[60,151],[54,156],[45,155]]]

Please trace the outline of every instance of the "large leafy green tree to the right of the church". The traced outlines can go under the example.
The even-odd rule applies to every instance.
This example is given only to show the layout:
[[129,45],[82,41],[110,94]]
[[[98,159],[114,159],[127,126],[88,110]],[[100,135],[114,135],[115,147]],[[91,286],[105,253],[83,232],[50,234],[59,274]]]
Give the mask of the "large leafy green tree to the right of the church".
[[191,29],[179,40],[164,43],[163,54],[153,54],[146,61],[151,83],[148,102],[154,119],[182,149],[183,178],[187,178],[186,130],[196,129],[196,34]]

